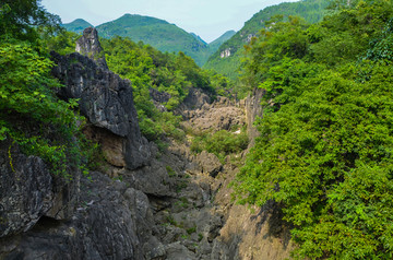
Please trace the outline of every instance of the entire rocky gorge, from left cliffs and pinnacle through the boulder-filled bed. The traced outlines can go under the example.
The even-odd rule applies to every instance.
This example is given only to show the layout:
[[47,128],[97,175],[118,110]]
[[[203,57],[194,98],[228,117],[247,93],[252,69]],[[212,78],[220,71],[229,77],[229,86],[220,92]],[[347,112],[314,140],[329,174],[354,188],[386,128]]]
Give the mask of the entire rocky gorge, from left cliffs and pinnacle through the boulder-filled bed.
[[[159,152],[140,132],[132,82],[108,70],[94,28],[76,50],[53,52],[52,73],[66,85],[58,95],[79,99],[85,134],[100,144],[105,164],[90,178],[70,169],[72,179],[64,180],[41,158],[0,142],[0,259],[289,257],[290,235],[276,204],[250,209],[231,200],[229,184],[248,150],[222,162],[192,153],[189,139],[168,139]],[[192,88],[177,113],[194,131],[249,126],[252,144],[261,95],[212,102]]]

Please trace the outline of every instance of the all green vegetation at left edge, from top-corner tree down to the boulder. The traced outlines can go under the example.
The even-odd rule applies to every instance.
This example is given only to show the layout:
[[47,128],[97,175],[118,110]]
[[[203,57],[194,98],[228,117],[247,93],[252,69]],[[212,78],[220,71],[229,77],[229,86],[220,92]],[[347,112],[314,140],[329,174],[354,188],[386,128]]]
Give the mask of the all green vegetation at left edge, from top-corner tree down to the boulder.
[[90,144],[80,131],[83,118],[73,111],[76,101],[63,102],[55,94],[61,86],[50,75],[52,62],[39,33],[58,29],[59,19],[39,1],[0,4],[0,141],[11,140],[67,176],[70,167],[86,163],[83,149]]

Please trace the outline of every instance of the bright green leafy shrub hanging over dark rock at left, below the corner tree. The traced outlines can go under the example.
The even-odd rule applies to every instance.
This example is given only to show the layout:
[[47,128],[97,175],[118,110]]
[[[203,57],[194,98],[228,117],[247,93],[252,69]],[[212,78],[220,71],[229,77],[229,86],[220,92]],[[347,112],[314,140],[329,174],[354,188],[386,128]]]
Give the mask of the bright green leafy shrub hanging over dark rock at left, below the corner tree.
[[56,97],[60,84],[49,74],[51,66],[27,42],[0,44],[0,140],[13,139],[53,173],[67,175],[69,166],[80,167],[85,159],[79,127],[83,118],[73,110],[76,101]]

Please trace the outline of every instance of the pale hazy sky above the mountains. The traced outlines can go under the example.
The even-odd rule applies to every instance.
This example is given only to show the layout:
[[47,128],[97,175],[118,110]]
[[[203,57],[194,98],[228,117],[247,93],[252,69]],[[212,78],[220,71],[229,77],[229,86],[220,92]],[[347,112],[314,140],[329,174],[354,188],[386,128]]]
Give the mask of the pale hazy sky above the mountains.
[[210,43],[229,29],[239,31],[265,7],[296,0],[41,0],[63,23],[84,19],[94,26],[124,13],[154,16],[195,33]]

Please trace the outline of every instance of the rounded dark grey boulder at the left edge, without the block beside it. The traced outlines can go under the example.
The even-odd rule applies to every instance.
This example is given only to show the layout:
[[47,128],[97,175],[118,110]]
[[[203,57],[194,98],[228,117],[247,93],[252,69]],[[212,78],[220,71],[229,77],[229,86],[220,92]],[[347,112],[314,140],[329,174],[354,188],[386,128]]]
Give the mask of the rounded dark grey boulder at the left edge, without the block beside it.
[[28,231],[52,205],[53,180],[43,159],[13,152],[9,157],[1,149],[0,237]]

